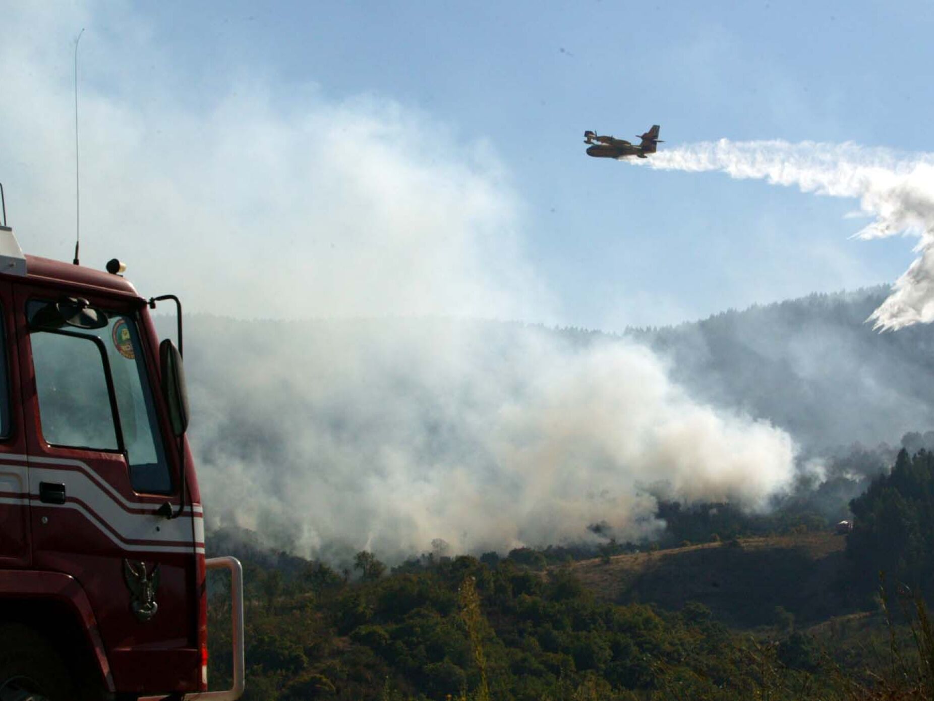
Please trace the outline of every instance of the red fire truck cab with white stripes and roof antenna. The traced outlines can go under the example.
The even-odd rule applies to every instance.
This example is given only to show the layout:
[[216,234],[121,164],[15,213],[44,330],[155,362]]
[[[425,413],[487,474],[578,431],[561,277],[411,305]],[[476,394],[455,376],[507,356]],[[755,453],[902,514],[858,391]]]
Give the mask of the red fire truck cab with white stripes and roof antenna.
[[[0,188],[0,202],[3,201]],[[237,699],[243,586],[205,559],[181,306],[23,255],[0,219],[0,701]],[[149,309],[177,304],[176,346]],[[207,691],[206,572],[231,573],[233,689]]]

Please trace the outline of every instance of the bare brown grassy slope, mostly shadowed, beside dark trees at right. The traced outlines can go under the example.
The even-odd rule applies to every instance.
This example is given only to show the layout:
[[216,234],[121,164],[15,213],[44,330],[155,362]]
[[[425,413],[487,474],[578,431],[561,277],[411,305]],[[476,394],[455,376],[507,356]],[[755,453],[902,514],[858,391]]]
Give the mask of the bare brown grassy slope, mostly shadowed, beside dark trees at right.
[[668,609],[698,601],[737,628],[773,624],[779,606],[804,624],[855,608],[847,595],[844,537],[810,533],[737,542],[617,555],[609,564],[585,560],[573,572],[603,601]]

